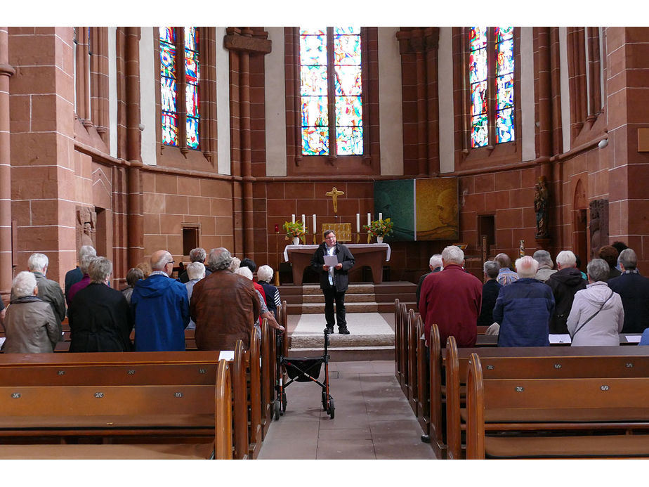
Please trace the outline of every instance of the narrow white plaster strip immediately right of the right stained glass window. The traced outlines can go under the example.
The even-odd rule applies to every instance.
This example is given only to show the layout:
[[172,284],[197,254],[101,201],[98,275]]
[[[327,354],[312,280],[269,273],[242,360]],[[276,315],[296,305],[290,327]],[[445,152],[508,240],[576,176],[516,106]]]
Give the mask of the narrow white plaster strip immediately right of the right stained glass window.
[[[516,84],[514,85],[516,89]],[[523,160],[536,159],[534,111],[534,46],[532,27],[520,28],[520,141]],[[517,137],[518,138],[518,137]]]

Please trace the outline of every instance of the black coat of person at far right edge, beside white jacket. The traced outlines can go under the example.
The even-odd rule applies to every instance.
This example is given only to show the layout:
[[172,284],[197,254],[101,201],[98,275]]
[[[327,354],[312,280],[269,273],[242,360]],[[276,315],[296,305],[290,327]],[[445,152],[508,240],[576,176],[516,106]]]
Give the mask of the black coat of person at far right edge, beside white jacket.
[[622,333],[642,333],[649,327],[649,279],[636,273],[624,273],[608,281],[624,306]]

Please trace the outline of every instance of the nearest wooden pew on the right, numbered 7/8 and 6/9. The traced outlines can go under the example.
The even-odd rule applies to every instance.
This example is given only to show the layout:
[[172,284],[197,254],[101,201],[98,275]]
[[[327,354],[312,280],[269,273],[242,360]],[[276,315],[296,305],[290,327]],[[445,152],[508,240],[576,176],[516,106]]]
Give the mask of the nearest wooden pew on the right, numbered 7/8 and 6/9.
[[[601,357],[582,360],[597,367]],[[483,372],[471,353],[468,459],[649,456],[649,377],[487,379]]]

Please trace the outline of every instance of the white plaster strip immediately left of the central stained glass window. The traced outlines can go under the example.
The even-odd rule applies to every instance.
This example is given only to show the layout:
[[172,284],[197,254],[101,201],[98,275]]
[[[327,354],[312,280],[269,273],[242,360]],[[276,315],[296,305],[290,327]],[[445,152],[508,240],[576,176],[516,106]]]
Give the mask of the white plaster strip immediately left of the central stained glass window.
[[286,86],[284,27],[268,27],[273,48],[264,58],[266,176],[286,176]]

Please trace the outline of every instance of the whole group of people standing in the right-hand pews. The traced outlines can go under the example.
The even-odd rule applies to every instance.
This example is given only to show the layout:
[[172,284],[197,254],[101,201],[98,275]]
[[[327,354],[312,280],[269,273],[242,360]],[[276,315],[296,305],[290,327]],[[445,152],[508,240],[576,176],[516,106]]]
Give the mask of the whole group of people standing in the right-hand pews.
[[[438,264],[440,259],[441,265]],[[546,250],[516,259],[497,254],[483,265],[484,283],[464,269],[464,252],[446,247],[431,257],[417,289],[426,344],[438,325],[445,345],[476,344],[478,326],[498,335],[498,346],[549,346],[550,335],[570,335],[572,346],[619,345],[620,333],[642,333],[649,344],[649,278],[622,242],[602,247],[586,273],[570,250]]]

